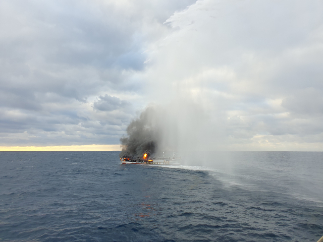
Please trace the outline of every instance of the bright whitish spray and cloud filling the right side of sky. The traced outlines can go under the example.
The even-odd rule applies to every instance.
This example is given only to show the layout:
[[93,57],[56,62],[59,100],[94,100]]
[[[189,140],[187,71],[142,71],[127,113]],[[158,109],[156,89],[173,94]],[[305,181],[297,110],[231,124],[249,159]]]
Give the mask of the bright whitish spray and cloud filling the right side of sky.
[[214,149],[320,140],[322,9],[320,1],[197,1],[171,16],[174,32],[151,46],[150,99],[200,105],[225,130],[225,145]]

